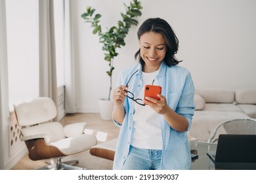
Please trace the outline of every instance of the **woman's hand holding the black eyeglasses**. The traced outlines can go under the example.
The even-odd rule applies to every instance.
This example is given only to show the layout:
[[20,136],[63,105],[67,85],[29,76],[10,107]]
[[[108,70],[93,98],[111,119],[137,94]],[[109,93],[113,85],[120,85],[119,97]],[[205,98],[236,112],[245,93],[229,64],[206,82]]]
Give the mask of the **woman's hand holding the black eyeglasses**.
[[113,92],[113,100],[115,107],[123,107],[125,97],[127,95],[126,91],[128,88],[126,86],[120,85]]

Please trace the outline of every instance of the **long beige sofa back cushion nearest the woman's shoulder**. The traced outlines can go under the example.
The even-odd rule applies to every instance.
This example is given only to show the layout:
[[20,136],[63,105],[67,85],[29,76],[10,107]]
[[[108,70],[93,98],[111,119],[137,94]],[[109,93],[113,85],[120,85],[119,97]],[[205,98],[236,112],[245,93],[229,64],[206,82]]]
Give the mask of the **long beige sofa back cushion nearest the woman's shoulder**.
[[196,94],[199,94],[206,103],[233,103],[234,91],[227,89],[205,88],[197,89]]

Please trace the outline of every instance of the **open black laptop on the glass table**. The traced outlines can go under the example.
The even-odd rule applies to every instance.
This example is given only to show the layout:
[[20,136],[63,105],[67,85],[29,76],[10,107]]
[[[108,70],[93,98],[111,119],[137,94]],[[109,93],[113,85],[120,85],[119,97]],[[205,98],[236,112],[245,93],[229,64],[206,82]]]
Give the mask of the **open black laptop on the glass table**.
[[221,134],[216,152],[207,152],[215,169],[256,169],[256,135]]

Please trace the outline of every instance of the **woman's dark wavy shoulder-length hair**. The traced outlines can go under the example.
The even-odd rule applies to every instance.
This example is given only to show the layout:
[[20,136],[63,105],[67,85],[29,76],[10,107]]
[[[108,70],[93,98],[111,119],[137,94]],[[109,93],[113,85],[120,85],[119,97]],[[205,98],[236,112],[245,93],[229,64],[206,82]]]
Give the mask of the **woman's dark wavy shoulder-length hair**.
[[[140,39],[140,37],[146,32],[160,33],[163,35],[167,46],[164,58],[166,65],[177,65],[182,61],[179,61],[175,57],[175,54],[177,54],[177,51],[179,50],[179,40],[171,28],[171,25],[169,25],[165,20],[161,18],[149,18],[145,20],[142,25],[140,25],[137,32],[138,39]],[[140,64],[144,66],[144,60],[140,57],[140,49],[135,54],[135,59],[138,59],[138,57]]]

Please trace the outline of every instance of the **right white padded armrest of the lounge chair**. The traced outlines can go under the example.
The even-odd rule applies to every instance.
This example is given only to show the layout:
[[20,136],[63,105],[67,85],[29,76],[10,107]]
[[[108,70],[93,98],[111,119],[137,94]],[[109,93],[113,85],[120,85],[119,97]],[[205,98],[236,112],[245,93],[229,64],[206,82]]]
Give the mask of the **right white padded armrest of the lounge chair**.
[[64,126],[65,137],[74,137],[74,136],[83,134],[86,124],[87,124],[86,122],[83,122],[83,123],[75,123],[75,124],[69,124]]

